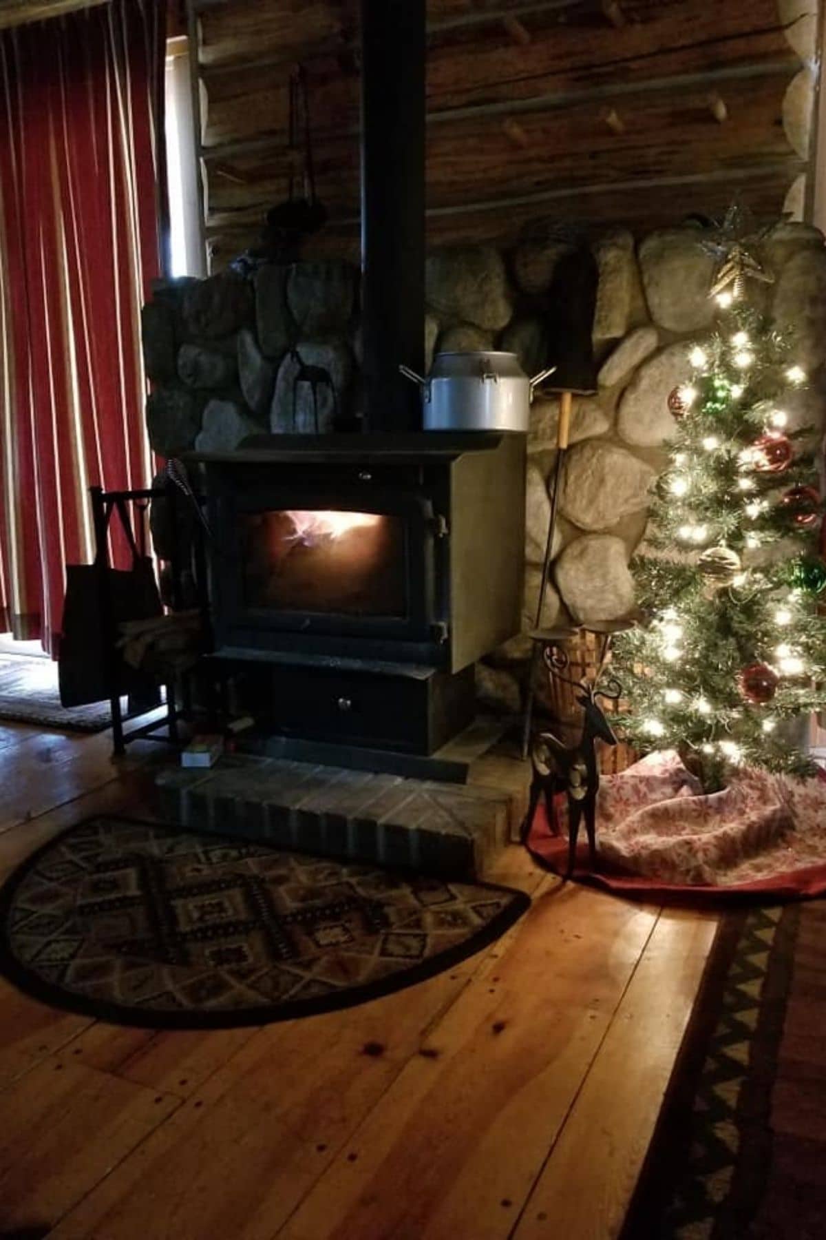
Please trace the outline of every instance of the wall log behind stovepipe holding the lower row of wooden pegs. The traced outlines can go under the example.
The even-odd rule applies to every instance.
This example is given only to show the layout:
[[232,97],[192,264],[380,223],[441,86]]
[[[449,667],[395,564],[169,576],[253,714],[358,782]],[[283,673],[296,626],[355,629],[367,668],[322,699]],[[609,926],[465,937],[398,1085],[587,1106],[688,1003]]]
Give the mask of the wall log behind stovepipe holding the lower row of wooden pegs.
[[[426,165],[430,201],[463,201],[480,186],[492,193],[508,187],[521,192],[549,181],[598,181],[601,172],[619,177],[706,172],[790,157],[778,125],[785,84],[784,78],[773,79],[753,93],[748,82],[729,83],[724,126],[715,124],[707,91],[698,88],[681,92],[676,103],[670,94],[637,94],[611,109],[587,103],[562,114],[478,117],[431,128]],[[609,131],[607,110],[615,110],[624,128]],[[206,161],[211,181],[215,162]],[[222,161],[222,166],[228,165]],[[249,188],[215,186],[213,210],[253,202],[265,206],[287,191],[289,153],[282,143],[240,156],[232,166],[245,176]],[[316,171],[321,193],[353,201],[355,139],[318,141]]]

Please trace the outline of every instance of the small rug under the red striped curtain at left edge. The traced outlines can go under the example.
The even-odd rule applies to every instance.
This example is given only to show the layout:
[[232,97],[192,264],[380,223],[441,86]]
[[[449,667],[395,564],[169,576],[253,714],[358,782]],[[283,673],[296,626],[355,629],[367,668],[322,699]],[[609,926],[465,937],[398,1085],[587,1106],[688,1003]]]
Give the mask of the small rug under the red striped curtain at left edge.
[[108,702],[61,706],[57,663],[27,655],[0,655],[0,719],[61,732],[104,732],[111,724]]

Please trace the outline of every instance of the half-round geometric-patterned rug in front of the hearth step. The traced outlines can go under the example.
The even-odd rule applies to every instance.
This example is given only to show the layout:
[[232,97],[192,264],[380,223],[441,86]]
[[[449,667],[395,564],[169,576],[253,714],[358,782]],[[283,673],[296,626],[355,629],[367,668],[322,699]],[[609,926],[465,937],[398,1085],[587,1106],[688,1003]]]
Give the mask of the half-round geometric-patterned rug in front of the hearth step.
[[529,904],[504,887],[100,817],[0,890],[0,970],[37,998],[121,1024],[264,1024],[450,968]]

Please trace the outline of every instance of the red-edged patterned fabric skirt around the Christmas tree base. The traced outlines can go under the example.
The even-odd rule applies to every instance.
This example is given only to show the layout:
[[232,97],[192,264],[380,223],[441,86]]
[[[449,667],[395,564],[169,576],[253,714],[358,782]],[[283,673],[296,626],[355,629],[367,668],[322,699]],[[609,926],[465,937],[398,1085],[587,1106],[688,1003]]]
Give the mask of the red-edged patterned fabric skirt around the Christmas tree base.
[[[540,808],[528,844],[563,873],[563,804],[557,817],[562,835],[555,836]],[[819,895],[826,892],[826,777],[744,769],[722,792],[703,796],[676,753],[649,754],[620,775],[603,776],[597,844],[598,873],[587,870],[581,843],[575,877],[611,890]]]

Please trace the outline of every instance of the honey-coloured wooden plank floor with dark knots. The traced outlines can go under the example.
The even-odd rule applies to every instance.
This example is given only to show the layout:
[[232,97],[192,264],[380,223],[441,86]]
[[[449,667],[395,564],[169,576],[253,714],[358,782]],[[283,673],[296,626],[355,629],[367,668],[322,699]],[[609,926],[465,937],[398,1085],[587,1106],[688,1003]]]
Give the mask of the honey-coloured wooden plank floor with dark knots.
[[[141,746],[115,766],[105,734],[0,725],[0,878],[89,813],[145,812]],[[152,1033],[0,980],[0,1240],[617,1235],[715,921],[515,847],[489,877],[534,897],[504,939],[305,1021]]]

